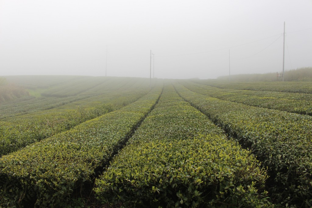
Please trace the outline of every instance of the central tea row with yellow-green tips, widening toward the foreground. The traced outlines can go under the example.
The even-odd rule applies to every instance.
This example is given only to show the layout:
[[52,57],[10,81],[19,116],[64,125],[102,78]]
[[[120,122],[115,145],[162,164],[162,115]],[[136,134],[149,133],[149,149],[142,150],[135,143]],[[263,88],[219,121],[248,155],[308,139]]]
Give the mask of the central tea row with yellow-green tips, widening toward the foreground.
[[266,177],[249,151],[170,85],[94,190],[103,203],[125,207],[260,207],[270,204]]

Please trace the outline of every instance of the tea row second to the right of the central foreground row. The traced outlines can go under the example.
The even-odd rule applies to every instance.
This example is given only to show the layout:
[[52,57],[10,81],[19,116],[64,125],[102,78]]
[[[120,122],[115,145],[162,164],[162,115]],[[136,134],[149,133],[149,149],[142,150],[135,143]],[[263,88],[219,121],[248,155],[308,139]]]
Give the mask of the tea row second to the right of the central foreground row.
[[232,90],[220,89],[188,81],[180,83],[194,92],[210,97],[243,103],[250,106],[264,107],[312,116],[312,94]]

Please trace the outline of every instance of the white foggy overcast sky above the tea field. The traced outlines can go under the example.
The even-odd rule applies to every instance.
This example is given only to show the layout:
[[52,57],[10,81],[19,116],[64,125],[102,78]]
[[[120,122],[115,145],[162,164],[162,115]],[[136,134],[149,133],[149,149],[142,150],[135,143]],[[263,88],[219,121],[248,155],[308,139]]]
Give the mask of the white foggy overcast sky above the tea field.
[[0,0],[0,76],[105,76],[107,64],[149,77],[150,50],[152,77],[280,72],[284,21],[285,69],[309,67],[311,14],[312,0]]

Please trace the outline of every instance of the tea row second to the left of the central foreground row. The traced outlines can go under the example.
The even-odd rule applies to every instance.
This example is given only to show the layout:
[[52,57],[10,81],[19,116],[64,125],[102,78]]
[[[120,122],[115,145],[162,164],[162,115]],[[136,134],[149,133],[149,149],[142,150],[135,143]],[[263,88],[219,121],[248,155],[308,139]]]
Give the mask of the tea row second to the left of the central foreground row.
[[84,121],[128,105],[148,92],[148,88],[129,88],[72,102],[47,111],[14,116],[0,121],[0,155],[68,130]]

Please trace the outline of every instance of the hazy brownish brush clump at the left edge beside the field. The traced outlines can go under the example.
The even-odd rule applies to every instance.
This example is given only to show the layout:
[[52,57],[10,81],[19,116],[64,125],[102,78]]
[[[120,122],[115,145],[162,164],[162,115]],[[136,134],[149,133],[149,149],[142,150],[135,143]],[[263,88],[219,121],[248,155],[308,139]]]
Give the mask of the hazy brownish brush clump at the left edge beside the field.
[[0,103],[23,96],[29,96],[29,92],[23,87],[7,82],[5,77],[0,77]]

